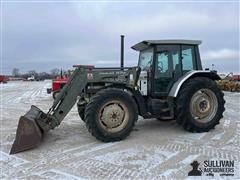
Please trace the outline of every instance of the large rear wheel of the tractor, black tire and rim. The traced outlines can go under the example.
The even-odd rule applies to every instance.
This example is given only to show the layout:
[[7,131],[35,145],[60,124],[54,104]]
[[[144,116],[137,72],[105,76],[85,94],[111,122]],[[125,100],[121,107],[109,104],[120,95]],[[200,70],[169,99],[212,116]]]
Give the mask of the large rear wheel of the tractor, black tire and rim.
[[190,132],[208,132],[223,117],[223,96],[216,82],[209,78],[196,77],[188,80],[176,100],[177,123]]

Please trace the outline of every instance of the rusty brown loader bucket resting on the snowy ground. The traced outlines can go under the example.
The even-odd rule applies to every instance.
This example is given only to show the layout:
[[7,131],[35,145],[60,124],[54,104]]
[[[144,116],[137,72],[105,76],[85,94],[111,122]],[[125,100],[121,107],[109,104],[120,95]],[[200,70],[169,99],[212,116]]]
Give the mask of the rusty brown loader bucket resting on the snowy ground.
[[32,149],[41,143],[43,133],[36,120],[43,115],[45,114],[39,108],[31,106],[31,109],[20,117],[10,154]]

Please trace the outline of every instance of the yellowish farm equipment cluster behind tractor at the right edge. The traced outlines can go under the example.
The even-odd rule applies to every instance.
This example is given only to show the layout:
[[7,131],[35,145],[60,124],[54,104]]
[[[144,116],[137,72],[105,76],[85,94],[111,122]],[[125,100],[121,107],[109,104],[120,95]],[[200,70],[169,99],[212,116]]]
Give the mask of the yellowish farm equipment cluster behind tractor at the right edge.
[[226,77],[217,81],[223,91],[240,92],[240,75],[229,73]]

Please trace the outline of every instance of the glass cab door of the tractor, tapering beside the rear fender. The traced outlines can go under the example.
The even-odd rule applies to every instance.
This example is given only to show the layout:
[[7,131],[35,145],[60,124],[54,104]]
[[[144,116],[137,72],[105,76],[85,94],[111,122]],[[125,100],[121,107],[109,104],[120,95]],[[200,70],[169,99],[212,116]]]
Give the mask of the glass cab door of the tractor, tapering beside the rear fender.
[[155,53],[153,94],[166,96],[182,75],[180,45],[158,45]]

